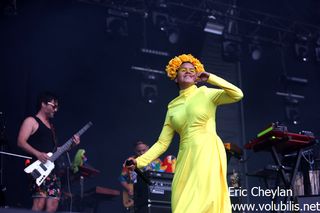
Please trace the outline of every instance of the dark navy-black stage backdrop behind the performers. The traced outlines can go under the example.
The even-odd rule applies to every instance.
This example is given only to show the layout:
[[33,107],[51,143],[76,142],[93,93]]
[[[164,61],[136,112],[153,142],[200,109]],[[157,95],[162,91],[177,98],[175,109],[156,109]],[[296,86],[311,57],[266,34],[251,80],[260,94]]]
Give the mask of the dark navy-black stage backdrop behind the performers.
[[[169,51],[170,57],[182,52],[200,57],[205,35],[194,29],[184,29],[185,36],[177,44],[169,44],[158,32],[148,31],[145,36],[138,16],[130,19],[136,24],[128,29],[129,36],[114,37],[106,32],[106,8],[76,1],[17,2],[18,15],[0,19],[0,111],[6,120],[6,151],[23,154],[16,147],[19,126],[25,116],[35,113],[38,93],[53,91],[61,99],[61,108],[54,119],[60,143],[86,122],[94,123],[81,138],[78,148],[86,150],[88,163],[101,174],[87,180],[85,188],[100,185],[120,190],[117,178],[124,159],[132,154],[132,144],[136,140],[150,145],[156,141],[167,103],[178,94],[173,82],[157,75],[157,101],[154,104],[145,102],[141,96],[141,82],[145,77],[131,69],[143,57],[138,54],[139,48],[149,43],[149,46]],[[276,9],[276,3],[268,5],[270,10],[267,12],[281,13]],[[283,2],[279,5],[281,8],[287,6]],[[288,16],[292,18],[291,13]],[[284,70],[280,48],[270,44],[264,44],[263,48],[259,61],[253,61],[245,52],[240,61],[245,94],[242,144],[273,121],[287,122],[293,131],[311,130],[318,135],[319,64],[298,62],[292,47],[286,46],[283,49]],[[168,59],[144,59],[143,62],[150,68],[163,70]],[[287,121],[284,100],[275,94],[284,89],[279,80],[284,72],[309,80],[306,86],[292,88],[293,93],[305,96],[299,104],[298,125]],[[176,155],[177,150],[178,140],[175,138],[166,154]],[[241,171],[243,175],[272,162],[268,153],[248,152],[247,156],[248,169]],[[27,182],[22,172],[24,161],[4,156],[3,163],[7,204],[30,207]],[[252,186],[261,184],[256,179],[249,179],[249,182]],[[77,183],[74,183],[74,190],[79,190]],[[121,212],[120,198],[104,203],[101,209]]]

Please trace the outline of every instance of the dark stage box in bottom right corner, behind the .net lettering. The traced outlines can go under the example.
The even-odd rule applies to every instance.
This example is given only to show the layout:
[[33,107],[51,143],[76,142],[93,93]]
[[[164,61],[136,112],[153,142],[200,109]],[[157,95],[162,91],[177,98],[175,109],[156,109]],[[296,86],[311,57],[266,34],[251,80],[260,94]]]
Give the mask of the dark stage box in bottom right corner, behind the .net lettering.
[[300,213],[320,212],[320,196],[300,196],[297,199]]

